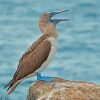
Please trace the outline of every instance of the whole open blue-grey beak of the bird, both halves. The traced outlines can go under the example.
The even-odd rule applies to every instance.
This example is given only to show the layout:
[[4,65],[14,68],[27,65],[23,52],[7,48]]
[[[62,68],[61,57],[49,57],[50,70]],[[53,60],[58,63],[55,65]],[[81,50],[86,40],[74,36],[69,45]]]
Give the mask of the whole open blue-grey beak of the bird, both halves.
[[51,19],[53,16],[59,14],[59,13],[63,13],[69,10],[63,10],[63,11],[54,11],[49,13],[49,18],[50,18],[50,22],[52,22],[53,24],[57,25],[59,22],[61,21],[69,21],[70,19]]

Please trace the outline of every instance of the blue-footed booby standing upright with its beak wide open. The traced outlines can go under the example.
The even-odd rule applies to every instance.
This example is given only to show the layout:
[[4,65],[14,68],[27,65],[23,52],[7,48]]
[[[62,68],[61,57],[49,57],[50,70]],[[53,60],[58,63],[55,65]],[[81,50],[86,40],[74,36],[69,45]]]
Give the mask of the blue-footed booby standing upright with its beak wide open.
[[58,33],[56,25],[69,19],[53,19],[52,17],[69,10],[45,12],[39,17],[41,36],[35,40],[19,60],[17,70],[12,80],[5,86],[8,87],[7,95],[10,95],[18,84],[26,78],[37,76],[37,80],[51,81],[53,77],[43,76],[41,72],[51,62],[57,45]]

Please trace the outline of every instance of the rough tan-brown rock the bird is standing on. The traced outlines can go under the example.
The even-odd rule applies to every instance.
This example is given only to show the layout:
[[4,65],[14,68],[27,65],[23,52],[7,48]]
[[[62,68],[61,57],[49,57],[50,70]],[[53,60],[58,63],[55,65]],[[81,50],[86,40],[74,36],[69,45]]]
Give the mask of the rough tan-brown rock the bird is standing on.
[[37,81],[30,86],[27,100],[100,100],[100,85],[61,78]]

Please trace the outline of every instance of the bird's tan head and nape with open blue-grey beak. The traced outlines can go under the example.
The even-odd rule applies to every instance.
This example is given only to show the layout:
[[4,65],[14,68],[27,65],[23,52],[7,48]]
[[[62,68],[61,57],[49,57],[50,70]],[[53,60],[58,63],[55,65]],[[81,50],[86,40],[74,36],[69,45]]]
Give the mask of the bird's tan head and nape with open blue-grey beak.
[[48,23],[52,23],[55,26],[61,22],[61,21],[68,21],[69,19],[52,19],[53,16],[66,12],[68,10],[63,10],[63,11],[53,11],[53,12],[48,12],[48,13],[44,13],[40,16],[39,18],[39,27],[42,33],[45,32],[45,28],[47,26]]

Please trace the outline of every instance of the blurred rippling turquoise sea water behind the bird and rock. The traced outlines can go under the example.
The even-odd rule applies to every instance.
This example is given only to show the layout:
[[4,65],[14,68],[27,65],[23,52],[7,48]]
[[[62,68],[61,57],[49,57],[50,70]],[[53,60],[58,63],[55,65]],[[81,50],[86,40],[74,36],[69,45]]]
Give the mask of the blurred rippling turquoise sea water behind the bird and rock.
[[[19,58],[39,35],[43,12],[69,9],[57,18],[59,45],[44,75],[100,84],[100,0],[0,0],[0,100]],[[6,100],[25,100],[36,78],[23,81]]]

